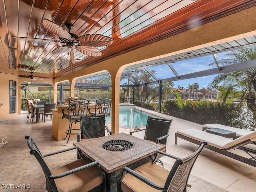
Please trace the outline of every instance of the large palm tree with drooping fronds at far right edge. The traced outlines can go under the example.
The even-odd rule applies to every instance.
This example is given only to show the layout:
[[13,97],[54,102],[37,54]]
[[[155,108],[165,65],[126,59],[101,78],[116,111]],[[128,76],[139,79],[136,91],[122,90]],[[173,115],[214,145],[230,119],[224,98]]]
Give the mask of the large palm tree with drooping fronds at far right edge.
[[[236,50],[227,55],[230,58],[220,60],[220,66],[254,60],[256,59],[256,48]],[[216,66],[216,63],[211,63],[209,66]],[[223,102],[234,93],[233,91],[239,91],[240,100],[247,103],[249,110],[256,112],[256,68],[220,74],[208,85],[210,88],[216,86],[223,86],[225,88],[224,94],[222,94]]]

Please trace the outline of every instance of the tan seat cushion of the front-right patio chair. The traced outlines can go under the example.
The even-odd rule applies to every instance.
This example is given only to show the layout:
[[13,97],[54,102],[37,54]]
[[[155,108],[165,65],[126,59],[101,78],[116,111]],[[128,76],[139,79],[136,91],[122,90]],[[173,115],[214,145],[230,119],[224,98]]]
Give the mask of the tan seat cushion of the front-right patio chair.
[[[169,172],[154,163],[148,162],[134,170],[154,183],[164,186]],[[123,192],[159,192],[131,174],[127,173],[121,182]]]

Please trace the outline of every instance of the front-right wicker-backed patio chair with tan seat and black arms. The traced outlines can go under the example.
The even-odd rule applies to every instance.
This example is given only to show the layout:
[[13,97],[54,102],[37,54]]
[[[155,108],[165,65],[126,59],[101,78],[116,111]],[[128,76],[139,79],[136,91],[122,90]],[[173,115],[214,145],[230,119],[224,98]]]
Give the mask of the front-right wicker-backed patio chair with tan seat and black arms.
[[[185,158],[178,158],[166,152],[157,151],[156,158],[132,170],[123,168],[123,175],[118,182],[118,191],[122,192],[186,192],[190,172],[198,158],[200,152],[207,145],[202,142],[198,149]],[[171,170],[168,171],[156,164],[159,156],[166,156],[175,160]]]

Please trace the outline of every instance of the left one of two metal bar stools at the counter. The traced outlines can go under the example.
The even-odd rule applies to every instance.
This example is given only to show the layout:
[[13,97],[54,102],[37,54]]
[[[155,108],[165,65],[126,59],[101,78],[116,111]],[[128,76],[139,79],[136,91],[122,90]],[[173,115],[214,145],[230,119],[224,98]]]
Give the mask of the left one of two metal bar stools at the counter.
[[[89,100],[86,99],[73,99],[69,101],[68,109],[62,109],[62,119],[67,118],[69,121],[69,128],[66,130],[66,137],[68,140],[70,135],[77,135],[78,130],[81,128],[80,118],[82,116],[87,116]],[[72,129],[72,124],[79,122],[79,129]],[[76,131],[74,131],[76,130]],[[68,141],[66,145],[68,144]]]

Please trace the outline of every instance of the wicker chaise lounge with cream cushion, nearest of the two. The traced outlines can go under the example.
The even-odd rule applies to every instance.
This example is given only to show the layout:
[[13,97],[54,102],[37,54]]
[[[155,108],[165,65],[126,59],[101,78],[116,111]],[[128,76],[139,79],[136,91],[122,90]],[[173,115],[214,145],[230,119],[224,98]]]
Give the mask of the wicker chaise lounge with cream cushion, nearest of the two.
[[[256,141],[256,131],[252,131],[235,140],[202,132],[197,129],[186,129],[176,132],[175,144],[177,144],[177,137],[198,145],[200,145],[201,142],[206,141],[208,143],[208,145],[205,146],[206,148],[256,167],[256,158],[253,156],[253,154],[256,154],[256,148],[255,145],[251,144]],[[251,145],[250,148],[248,147],[249,145]],[[243,150],[246,155],[250,157],[246,158],[233,153],[232,149],[236,148]]]

